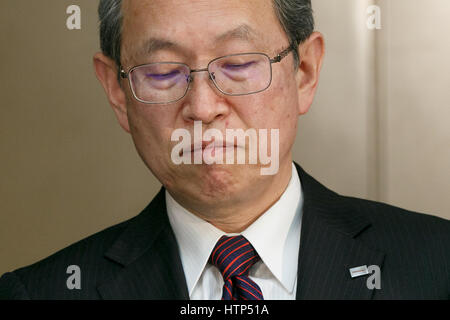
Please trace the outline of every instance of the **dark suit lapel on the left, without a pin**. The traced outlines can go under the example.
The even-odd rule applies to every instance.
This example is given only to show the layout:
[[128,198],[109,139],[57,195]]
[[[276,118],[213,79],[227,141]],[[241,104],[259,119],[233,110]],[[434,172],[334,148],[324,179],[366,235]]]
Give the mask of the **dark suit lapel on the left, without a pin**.
[[121,268],[97,287],[104,299],[189,299],[164,188],[136,216],[105,257]]

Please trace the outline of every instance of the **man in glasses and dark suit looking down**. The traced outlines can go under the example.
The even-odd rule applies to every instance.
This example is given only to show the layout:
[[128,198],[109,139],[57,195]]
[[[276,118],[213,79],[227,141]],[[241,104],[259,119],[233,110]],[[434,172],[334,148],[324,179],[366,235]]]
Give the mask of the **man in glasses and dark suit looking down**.
[[324,55],[309,0],[102,0],[99,14],[97,77],[163,188],[3,275],[2,298],[450,297],[448,221],[340,196],[292,162]]

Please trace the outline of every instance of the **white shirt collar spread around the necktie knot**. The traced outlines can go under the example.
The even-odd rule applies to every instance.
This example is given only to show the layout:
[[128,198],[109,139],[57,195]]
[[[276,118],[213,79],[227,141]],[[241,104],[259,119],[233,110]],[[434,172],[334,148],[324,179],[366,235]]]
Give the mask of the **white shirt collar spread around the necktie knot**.
[[[291,179],[280,199],[241,233],[289,292],[297,276],[302,204],[300,179],[292,164]],[[187,211],[167,190],[166,205],[191,295],[214,246],[227,234]]]

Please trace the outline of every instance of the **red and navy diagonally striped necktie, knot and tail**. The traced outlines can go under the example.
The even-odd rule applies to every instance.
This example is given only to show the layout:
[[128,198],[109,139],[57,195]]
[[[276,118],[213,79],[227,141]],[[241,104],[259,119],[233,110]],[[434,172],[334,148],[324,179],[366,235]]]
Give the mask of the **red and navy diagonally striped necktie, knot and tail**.
[[248,277],[259,255],[243,236],[222,236],[208,262],[219,268],[224,285],[222,300],[263,300],[259,286]]

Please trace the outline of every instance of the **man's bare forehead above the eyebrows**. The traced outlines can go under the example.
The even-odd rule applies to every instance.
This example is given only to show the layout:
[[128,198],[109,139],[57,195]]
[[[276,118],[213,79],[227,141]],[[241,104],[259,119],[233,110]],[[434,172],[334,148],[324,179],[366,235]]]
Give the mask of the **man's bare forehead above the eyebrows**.
[[268,44],[285,36],[272,0],[124,0],[122,12],[126,52],[149,45],[198,51],[231,40]]

